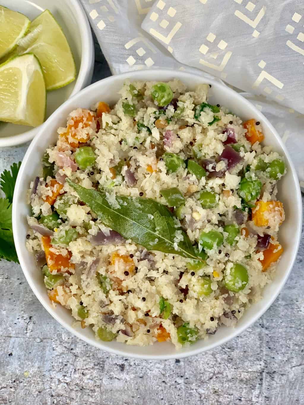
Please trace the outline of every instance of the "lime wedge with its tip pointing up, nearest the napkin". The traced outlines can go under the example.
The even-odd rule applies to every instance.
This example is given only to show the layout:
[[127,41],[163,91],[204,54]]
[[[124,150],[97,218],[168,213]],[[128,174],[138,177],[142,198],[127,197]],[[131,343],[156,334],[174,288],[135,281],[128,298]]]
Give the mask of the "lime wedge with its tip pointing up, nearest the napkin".
[[19,40],[17,54],[32,52],[39,59],[47,90],[56,90],[75,80],[76,66],[60,26],[49,10],[35,18],[28,34]]

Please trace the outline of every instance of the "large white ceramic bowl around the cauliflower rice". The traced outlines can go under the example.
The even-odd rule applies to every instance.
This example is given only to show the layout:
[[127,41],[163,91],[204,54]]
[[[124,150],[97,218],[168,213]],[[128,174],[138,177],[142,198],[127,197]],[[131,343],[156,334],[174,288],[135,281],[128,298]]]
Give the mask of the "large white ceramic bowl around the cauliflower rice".
[[[265,144],[272,145],[275,151],[285,156],[287,175],[279,182],[278,193],[280,200],[284,203],[286,213],[286,220],[280,227],[279,233],[280,243],[282,243],[285,251],[278,264],[273,282],[264,289],[263,299],[246,310],[246,313],[235,328],[221,327],[217,333],[210,336],[208,340],[197,341],[190,347],[185,347],[180,351],[176,351],[174,346],[168,342],[157,342],[148,347],[127,346],[118,342],[102,342],[94,338],[90,328],[73,329],[71,326],[73,318],[70,311],[60,305],[58,305],[56,309],[52,307],[43,283],[43,277],[35,264],[34,255],[30,254],[26,249],[26,233],[28,228],[26,215],[30,213],[30,207],[26,203],[26,192],[29,188],[30,181],[32,181],[41,170],[41,157],[43,152],[49,144],[56,143],[56,130],[59,126],[65,126],[66,117],[73,109],[77,107],[90,108],[92,104],[100,100],[104,100],[110,105],[114,104],[119,98],[117,92],[127,78],[131,80],[168,81],[174,77],[180,78],[190,90],[193,90],[199,83],[212,84],[209,97],[211,104],[219,103],[223,106],[227,106],[229,110],[233,111],[233,113],[240,116],[242,119],[254,117],[256,120],[260,121],[265,134]],[[13,232],[17,254],[28,283],[45,309],[47,309],[62,326],[87,343],[111,353],[135,358],[167,359],[190,356],[223,344],[240,334],[268,309],[282,289],[295,261],[300,242],[302,223],[301,208],[302,203],[298,179],[285,146],[272,125],[249,101],[242,98],[242,96],[229,87],[216,81],[204,79],[201,75],[197,76],[180,71],[174,72],[173,70],[141,70],[112,76],[90,85],[76,96],[66,101],[47,120],[45,126],[41,128],[39,134],[28,148],[19,171],[13,200]]]

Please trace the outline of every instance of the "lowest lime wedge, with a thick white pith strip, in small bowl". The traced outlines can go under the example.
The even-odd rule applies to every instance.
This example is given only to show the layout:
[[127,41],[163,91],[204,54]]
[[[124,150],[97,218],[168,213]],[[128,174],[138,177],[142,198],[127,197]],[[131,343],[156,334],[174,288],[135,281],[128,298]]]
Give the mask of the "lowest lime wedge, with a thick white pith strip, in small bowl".
[[0,65],[0,121],[36,127],[45,119],[45,107],[45,81],[35,55]]

